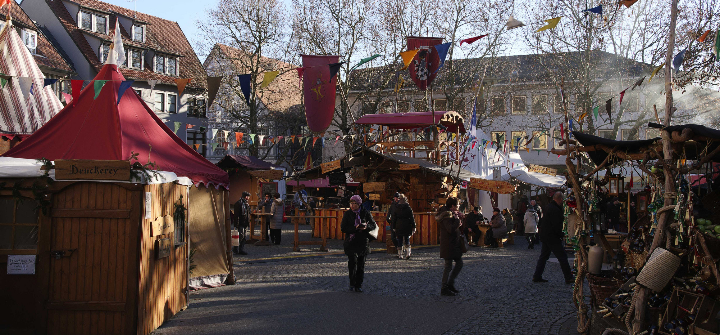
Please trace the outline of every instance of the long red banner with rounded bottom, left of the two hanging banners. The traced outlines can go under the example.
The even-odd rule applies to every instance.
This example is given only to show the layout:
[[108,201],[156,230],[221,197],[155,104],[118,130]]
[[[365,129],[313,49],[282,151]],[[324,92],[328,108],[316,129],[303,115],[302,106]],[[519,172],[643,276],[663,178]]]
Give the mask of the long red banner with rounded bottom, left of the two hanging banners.
[[310,132],[325,132],[335,114],[337,76],[330,80],[330,65],[340,56],[302,55],[302,91],[305,96],[305,119]]

